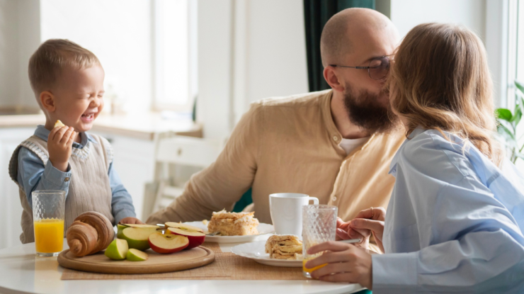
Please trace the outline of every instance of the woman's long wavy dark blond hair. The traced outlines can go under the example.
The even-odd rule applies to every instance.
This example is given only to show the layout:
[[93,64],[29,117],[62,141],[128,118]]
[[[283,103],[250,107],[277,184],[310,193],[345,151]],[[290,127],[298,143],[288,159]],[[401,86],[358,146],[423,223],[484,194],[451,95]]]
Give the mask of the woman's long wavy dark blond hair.
[[462,26],[423,23],[406,35],[389,74],[392,108],[407,122],[471,142],[496,165],[492,81],[481,40]]

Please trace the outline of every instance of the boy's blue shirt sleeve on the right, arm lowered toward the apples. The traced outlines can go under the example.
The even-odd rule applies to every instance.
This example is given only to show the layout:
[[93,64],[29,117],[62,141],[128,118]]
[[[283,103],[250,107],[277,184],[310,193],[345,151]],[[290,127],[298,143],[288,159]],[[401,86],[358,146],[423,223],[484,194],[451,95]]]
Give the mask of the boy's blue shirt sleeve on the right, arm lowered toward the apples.
[[133,206],[131,195],[124,187],[120,176],[118,176],[115,169],[113,169],[113,162],[109,165],[108,175],[111,193],[113,194],[111,210],[113,217],[115,217],[115,224],[118,224],[118,222],[125,217],[136,217],[135,206]]

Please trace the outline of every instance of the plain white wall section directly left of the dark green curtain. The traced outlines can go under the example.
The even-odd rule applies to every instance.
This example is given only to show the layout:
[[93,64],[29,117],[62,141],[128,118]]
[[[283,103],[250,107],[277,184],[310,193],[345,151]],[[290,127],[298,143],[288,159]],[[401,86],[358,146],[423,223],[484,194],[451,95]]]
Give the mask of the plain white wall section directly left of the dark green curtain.
[[303,1],[251,0],[246,15],[247,101],[307,92]]

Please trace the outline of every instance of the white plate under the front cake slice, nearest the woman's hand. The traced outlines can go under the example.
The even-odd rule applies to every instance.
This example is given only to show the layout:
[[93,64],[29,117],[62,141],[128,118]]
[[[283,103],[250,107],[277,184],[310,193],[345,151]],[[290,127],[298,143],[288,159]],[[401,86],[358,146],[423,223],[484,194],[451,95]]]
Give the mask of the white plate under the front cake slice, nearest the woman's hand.
[[253,259],[259,264],[268,266],[284,266],[288,268],[301,268],[301,260],[270,259],[265,250],[266,242],[252,242],[237,245],[231,249],[234,254]]

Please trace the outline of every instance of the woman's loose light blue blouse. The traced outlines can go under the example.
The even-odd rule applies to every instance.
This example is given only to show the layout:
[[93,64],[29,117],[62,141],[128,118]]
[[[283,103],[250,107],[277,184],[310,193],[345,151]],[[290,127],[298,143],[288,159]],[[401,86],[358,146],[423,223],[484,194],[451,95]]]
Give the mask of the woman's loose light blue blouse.
[[524,178],[445,135],[417,128],[392,160],[373,293],[524,293]]

